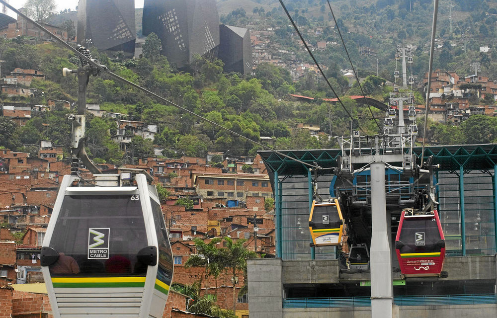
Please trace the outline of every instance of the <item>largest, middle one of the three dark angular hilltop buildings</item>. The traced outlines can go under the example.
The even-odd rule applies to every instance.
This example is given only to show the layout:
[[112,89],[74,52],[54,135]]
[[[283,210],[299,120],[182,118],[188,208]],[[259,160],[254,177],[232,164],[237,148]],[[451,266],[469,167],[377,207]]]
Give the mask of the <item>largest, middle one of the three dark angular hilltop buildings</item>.
[[161,53],[171,65],[188,67],[194,54],[216,58],[219,49],[219,13],[215,0],[145,0],[143,35],[162,41]]

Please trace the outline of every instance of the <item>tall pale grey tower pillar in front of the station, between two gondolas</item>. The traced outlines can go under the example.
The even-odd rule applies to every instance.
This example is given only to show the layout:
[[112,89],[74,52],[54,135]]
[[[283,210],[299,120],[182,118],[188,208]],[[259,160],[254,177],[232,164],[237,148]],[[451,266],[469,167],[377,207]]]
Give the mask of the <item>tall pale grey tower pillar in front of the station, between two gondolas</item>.
[[371,163],[371,317],[392,318],[392,255],[385,201],[385,163]]

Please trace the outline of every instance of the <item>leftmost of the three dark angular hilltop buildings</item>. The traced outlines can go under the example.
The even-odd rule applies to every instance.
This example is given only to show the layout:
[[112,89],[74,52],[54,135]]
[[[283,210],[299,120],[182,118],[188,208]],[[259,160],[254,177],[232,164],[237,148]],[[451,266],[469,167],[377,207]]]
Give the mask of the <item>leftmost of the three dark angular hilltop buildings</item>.
[[134,0],[79,1],[78,44],[134,54],[135,39]]

